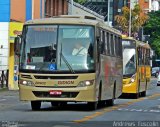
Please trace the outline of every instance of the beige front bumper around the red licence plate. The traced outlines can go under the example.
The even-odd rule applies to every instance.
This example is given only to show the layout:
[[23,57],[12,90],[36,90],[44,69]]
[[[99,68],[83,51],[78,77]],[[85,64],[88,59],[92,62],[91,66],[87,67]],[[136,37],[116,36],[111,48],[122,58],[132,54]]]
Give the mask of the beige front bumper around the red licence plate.
[[[74,88],[45,88],[19,85],[21,101],[96,101],[94,86]],[[61,91],[61,95],[51,95],[50,91]]]

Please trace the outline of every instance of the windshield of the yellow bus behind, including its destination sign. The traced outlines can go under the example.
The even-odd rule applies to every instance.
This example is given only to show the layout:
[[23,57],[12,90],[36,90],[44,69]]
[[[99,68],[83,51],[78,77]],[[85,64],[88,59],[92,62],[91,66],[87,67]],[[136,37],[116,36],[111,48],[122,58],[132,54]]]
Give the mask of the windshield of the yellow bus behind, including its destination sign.
[[123,75],[131,76],[136,72],[136,45],[133,41],[123,40]]

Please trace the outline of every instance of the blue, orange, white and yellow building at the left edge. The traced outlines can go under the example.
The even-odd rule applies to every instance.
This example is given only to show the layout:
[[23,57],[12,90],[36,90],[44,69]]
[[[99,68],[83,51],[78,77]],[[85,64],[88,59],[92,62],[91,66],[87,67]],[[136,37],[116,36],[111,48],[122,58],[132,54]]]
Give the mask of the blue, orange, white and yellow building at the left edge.
[[0,0],[0,73],[9,70],[9,89],[17,89],[17,63],[14,58],[14,38],[23,23],[45,17],[45,0]]

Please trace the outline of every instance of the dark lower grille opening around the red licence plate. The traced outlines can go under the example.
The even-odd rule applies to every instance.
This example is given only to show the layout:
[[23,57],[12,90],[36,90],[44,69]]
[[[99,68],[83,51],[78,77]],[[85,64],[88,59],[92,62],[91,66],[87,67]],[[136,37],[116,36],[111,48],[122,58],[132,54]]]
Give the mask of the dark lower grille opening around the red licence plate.
[[62,95],[50,95],[49,92],[33,91],[36,97],[42,98],[75,98],[79,92],[62,92]]

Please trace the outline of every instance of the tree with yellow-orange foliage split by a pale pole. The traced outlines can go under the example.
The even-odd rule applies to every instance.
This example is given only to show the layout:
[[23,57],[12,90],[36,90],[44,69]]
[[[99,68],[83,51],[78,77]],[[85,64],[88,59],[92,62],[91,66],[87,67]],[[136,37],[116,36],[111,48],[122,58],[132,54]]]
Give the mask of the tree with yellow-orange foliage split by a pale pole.
[[[122,15],[115,16],[115,21],[117,24],[116,27],[120,28],[122,30],[122,33],[127,35],[129,31],[129,18],[130,9],[126,6],[122,8]],[[142,14],[142,9],[140,8],[139,4],[136,4],[134,6],[134,9],[131,10],[131,33],[133,37],[136,33],[138,33],[139,29],[147,19],[148,16]]]

